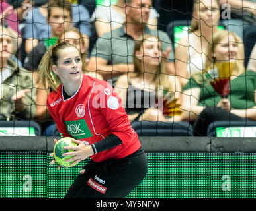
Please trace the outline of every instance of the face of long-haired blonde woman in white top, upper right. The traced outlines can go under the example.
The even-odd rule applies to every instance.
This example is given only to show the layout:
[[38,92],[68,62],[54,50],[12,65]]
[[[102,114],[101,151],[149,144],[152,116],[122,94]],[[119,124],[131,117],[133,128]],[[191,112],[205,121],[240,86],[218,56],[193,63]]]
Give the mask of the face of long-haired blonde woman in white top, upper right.
[[193,15],[197,20],[200,20],[201,28],[204,26],[218,26],[220,8],[216,0],[200,0]]

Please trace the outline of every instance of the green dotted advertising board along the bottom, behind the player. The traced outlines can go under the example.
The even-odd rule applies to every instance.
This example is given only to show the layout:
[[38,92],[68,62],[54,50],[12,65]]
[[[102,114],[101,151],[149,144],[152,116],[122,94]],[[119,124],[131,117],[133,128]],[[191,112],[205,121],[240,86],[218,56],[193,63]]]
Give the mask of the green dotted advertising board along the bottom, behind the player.
[[[127,198],[256,196],[256,153],[147,152],[148,173]],[[50,166],[48,152],[0,152],[0,197],[62,198],[87,161]]]

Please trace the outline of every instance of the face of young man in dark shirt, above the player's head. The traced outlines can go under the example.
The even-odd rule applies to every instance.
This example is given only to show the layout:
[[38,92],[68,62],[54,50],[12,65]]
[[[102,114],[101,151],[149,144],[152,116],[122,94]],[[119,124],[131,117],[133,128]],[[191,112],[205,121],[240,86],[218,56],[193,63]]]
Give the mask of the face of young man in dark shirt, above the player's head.
[[64,29],[67,30],[72,26],[71,14],[66,9],[52,8],[48,23],[52,28],[52,36],[59,36]]

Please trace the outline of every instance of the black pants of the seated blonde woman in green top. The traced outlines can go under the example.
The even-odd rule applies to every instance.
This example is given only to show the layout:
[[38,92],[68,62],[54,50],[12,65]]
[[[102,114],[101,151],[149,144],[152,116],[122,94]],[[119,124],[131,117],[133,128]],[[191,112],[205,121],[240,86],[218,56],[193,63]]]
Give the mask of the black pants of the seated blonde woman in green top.
[[245,121],[245,119],[220,107],[209,106],[194,122],[194,136],[207,136],[207,128],[214,121]]

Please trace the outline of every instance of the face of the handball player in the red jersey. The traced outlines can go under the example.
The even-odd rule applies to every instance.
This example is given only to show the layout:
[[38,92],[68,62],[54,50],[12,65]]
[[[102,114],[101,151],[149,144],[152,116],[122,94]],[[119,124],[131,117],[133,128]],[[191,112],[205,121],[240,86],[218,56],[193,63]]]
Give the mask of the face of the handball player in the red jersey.
[[82,75],[81,56],[75,47],[60,50],[58,65],[52,65],[52,70],[59,76],[62,83],[80,82]]

